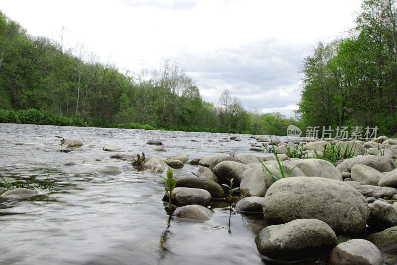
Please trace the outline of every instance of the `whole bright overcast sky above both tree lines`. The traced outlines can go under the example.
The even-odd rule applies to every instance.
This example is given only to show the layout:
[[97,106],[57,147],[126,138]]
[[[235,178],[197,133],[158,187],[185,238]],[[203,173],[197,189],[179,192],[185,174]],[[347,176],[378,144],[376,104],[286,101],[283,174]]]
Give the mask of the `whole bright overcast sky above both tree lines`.
[[230,90],[245,108],[292,116],[303,59],[341,37],[361,0],[1,0],[32,35],[82,40],[104,62],[138,72],[177,61],[216,103]]

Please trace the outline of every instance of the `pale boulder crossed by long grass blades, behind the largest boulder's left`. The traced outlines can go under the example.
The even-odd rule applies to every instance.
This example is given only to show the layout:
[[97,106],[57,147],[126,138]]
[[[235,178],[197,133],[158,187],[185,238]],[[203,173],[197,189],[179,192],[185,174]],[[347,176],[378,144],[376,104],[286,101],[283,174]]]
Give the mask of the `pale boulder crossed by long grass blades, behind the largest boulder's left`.
[[[277,178],[281,178],[278,165],[264,163],[267,169],[274,173]],[[304,176],[299,168],[294,168],[291,165],[284,164],[283,169],[286,176],[289,176],[292,171],[291,177]],[[240,192],[244,196],[265,196],[266,190],[273,184],[275,179],[269,174],[269,172],[259,164],[258,166],[249,169],[243,173],[240,182]]]

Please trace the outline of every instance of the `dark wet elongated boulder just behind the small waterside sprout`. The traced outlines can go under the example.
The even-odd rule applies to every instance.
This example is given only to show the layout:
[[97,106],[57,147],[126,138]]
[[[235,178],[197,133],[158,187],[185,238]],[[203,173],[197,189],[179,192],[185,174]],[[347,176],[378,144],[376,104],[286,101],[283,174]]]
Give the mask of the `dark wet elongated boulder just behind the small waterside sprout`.
[[224,198],[225,193],[222,187],[205,177],[184,177],[177,178],[175,180],[176,187],[188,187],[188,188],[201,188],[205,189],[211,194],[211,198]]

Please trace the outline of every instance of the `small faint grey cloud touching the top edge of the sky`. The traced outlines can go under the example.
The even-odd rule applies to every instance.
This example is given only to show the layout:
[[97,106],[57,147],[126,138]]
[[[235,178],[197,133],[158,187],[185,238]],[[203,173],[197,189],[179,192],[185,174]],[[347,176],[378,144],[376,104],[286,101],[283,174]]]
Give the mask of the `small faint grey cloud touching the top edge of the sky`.
[[190,10],[194,9],[198,0],[124,0],[127,6],[151,6],[172,10]]

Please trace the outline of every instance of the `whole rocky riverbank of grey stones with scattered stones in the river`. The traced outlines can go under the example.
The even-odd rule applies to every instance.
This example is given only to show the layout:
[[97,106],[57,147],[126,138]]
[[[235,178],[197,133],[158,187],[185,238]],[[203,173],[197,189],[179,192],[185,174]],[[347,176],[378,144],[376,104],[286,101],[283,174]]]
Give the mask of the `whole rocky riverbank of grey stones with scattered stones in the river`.
[[[211,141],[217,140],[208,139]],[[260,214],[267,222],[255,239],[264,259],[297,261],[321,256],[330,264],[347,264],[351,259],[360,261],[359,264],[396,263],[395,139],[381,136],[365,142],[310,139],[281,142],[272,138],[270,142],[264,137],[229,137],[219,141],[225,144],[242,141],[247,153],[218,153],[198,158],[173,152],[166,159],[146,157],[143,167],[153,174],[170,168],[178,172],[187,164],[196,167],[191,176],[177,178],[176,196],[172,200],[176,221],[207,222],[215,214],[209,205],[226,200],[230,201],[231,211]],[[73,155],[89,143],[83,139],[65,139],[61,144],[57,149],[43,151]],[[125,161],[126,165],[136,160],[135,154],[122,152],[125,147],[109,144],[112,145],[104,146],[103,151],[109,152],[110,158]],[[147,149],[141,151],[168,152],[160,145],[161,140],[148,140]],[[336,161],[335,157],[326,156],[330,148],[336,148],[335,157],[339,158]],[[345,150],[350,158],[343,158]],[[69,162],[67,166],[76,164]],[[124,169],[105,166],[97,172],[119,175]],[[229,198],[228,188],[222,185],[229,184],[230,178],[233,188],[239,188],[239,197]],[[161,178],[156,182],[160,186],[164,184]],[[42,190],[24,187],[0,192],[1,198],[7,200],[43,194]],[[168,198],[165,196],[164,200]]]

